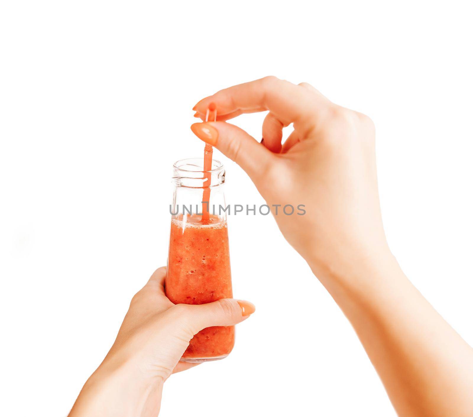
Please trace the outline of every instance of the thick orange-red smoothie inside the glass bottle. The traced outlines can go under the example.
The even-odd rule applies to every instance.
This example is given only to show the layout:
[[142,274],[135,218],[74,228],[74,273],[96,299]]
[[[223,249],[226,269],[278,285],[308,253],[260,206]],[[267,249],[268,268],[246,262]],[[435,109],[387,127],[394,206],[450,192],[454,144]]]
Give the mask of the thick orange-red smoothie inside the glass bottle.
[[[210,215],[171,220],[166,295],[174,304],[205,304],[232,298],[227,222]],[[183,360],[219,359],[235,342],[235,328],[208,327],[189,343]]]

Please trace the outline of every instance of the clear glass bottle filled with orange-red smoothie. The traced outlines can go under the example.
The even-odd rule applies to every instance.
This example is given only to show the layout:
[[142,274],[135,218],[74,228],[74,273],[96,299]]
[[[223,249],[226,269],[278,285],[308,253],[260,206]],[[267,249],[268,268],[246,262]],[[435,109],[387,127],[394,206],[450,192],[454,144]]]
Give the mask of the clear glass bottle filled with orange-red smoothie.
[[[183,159],[174,164],[172,180],[167,297],[174,304],[205,304],[232,298],[223,165],[214,160],[212,169],[204,172],[203,158]],[[223,359],[234,342],[234,326],[209,327],[193,337],[181,361]]]

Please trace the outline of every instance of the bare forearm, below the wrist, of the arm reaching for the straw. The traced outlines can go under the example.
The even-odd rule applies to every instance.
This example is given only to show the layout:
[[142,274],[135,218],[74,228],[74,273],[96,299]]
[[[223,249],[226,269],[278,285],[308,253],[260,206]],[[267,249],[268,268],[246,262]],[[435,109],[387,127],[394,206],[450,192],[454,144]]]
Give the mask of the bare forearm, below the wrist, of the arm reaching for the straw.
[[473,415],[473,349],[390,253],[341,275],[315,272],[353,325],[400,416]]

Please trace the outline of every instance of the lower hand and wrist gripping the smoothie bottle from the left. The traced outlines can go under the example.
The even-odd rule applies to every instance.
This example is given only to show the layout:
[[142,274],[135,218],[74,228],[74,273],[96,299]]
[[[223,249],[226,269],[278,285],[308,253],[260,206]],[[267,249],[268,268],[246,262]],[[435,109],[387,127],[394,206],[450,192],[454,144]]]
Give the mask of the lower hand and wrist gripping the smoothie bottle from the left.
[[247,301],[173,304],[164,292],[166,268],[157,269],[133,297],[114,345],[88,379],[70,417],[157,416],[163,383],[197,364],[179,362],[194,334],[232,326],[254,313]]

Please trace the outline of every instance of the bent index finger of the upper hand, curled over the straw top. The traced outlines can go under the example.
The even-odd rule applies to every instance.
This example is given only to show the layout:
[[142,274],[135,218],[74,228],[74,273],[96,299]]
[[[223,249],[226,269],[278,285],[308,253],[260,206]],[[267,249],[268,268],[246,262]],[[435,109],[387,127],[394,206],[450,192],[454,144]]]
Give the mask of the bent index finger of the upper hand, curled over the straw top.
[[276,77],[265,77],[220,90],[202,99],[194,106],[194,110],[205,114],[210,103],[217,107],[218,120],[228,120],[241,113],[269,110],[287,126],[309,114],[313,117],[316,110],[321,110],[330,102],[315,88],[296,86]]

